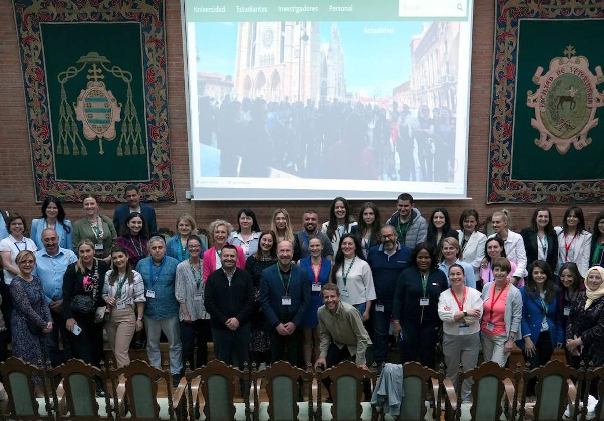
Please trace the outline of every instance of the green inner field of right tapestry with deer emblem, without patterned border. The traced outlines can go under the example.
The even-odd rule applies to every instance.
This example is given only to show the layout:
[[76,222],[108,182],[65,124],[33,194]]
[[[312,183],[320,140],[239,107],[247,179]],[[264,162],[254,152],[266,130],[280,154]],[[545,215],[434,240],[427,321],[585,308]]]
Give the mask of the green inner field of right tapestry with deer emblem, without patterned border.
[[[604,165],[594,156],[604,156],[604,124],[594,125],[586,138],[591,143],[573,138],[590,123],[591,109],[599,94],[589,79],[589,72],[596,73],[596,66],[604,65],[604,49],[588,34],[604,33],[604,21],[535,21],[521,19],[518,37],[518,84],[517,103],[513,132],[512,178],[516,180],[593,180],[604,179]],[[582,63],[576,63],[583,56]],[[550,60],[563,57],[559,71],[553,73],[543,97],[545,115],[543,124],[548,133],[556,134],[561,142],[544,147],[536,145],[538,129],[527,124],[535,118],[535,109],[527,106],[522,97],[539,87],[532,80],[536,68],[548,71]],[[559,60],[554,65],[559,65]],[[544,78],[542,78],[544,79]],[[547,83],[545,78],[542,83]],[[600,81],[601,83],[602,81]],[[541,98],[537,98],[541,102]],[[590,106],[588,106],[590,104]],[[596,109],[596,118],[604,116],[604,110]]]

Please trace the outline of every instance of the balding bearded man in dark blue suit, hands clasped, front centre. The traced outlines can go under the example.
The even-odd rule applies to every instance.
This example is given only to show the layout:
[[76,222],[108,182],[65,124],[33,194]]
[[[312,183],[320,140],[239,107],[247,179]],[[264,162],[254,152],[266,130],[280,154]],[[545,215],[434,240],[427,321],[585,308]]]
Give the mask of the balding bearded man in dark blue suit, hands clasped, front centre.
[[300,365],[302,329],[310,303],[310,279],[306,270],[292,264],[294,245],[277,245],[276,265],[262,271],[260,303],[271,334],[271,359]]

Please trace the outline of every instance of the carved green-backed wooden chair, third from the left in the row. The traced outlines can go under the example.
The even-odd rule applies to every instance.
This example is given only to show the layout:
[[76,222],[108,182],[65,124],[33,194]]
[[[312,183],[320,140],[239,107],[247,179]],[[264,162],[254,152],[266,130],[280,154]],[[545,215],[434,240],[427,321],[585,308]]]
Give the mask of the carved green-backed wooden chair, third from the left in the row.
[[[187,380],[181,379],[176,390],[172,391],[172,376],[167,361],[164,362],[164,370],[152,367],[141,359],[134,359],[120,369],[114,369],[112,365],[109,360],[107,378],[111,381],[117,419],[181,420],[186,414],[183,396]],[[162,380],[165,381],[167,398],[158,397],[157,382]],[[126,416],[127,413],[130,413],[130,417]]]

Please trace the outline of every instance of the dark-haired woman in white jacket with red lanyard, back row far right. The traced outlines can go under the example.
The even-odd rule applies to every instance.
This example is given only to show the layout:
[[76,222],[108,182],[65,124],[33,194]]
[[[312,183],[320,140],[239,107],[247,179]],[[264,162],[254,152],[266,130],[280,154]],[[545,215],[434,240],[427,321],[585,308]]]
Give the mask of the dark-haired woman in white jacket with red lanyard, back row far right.
[[591,234],[585,230],[585,217],[579,206],[571,206],[562,218],[562,226],[554,227],[558,239],[558,262],[554,274],[566,262],[575,262],[581,276],[590,267]]

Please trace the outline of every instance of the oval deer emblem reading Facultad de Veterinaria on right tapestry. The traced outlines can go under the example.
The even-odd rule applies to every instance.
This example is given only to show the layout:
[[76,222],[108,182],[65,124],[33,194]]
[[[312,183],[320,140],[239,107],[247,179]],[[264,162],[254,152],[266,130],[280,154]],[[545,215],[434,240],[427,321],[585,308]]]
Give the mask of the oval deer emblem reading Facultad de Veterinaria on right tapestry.
[[539,130],[535,145],[546,151],[555,146],[561,155],[571,145],[581,150],[591,144],[589,131],[598,125],[596,110],[604,105],[604,94],[597,89],[604,82],[602,68],[597,66],[594,75],[590,62],[574,54],[568,45],[565,57],[552,59],[545,75],[539,66],[532,79],[539,87],[534,93],[529,90],[527,98],[527,106],[535,109],[531,125]]

